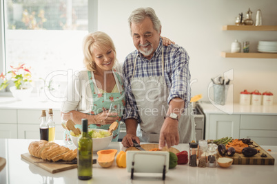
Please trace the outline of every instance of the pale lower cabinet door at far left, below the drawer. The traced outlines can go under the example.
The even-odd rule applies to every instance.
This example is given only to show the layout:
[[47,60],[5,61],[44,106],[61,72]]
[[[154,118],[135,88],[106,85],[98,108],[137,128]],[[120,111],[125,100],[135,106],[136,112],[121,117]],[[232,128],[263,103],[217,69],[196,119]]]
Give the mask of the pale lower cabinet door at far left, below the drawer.
[[17,124],[0,124],[0,139],[17,139]]

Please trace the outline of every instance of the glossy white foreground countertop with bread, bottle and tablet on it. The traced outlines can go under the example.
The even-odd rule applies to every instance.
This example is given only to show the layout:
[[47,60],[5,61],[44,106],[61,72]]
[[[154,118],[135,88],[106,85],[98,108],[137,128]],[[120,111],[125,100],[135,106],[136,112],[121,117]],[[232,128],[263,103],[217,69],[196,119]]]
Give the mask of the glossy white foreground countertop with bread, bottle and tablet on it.
[[[231,165],[229,168],[193,168],[177,165],[166,174],[165,182],[161,174],[130,173],[125,168],[118,168],[114,161],[111,168],[93,165],[93,179],[80,181],[77,169],[51,174],[32,163],[21,159],[21,154],[28,152],[30,139],[0,139],[0,157],[7,159],[6,167],[0,172],[0,183],[276,183],[277,165]],[[57,142],[61,143],[61,142]],[[262,146],[271,149],[271,156],[277,159],[277,146]],[[125,150],[121,143],[110,143],[107,149]],[[174,146],[178,150],[189,151],[188,144]],[[94,159],[96,159],[94,154]]]

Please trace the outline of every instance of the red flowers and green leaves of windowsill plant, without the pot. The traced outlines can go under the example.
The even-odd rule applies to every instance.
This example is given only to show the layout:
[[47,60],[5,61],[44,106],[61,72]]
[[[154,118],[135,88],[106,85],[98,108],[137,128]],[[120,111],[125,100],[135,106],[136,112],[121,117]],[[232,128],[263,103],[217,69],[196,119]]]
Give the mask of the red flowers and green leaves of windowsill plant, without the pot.
[[11,71],[8,71],[5,75],[3,72],[0,78],[3,82],[0,85],[0,90],[5,89],[9,85],[9,81],[14,82],[17,89],[25,89],[29,82],[32,82],[32,74],[30,72],[30,67],[25,67],[25,64],[19,65],[18,67],[13,67]]

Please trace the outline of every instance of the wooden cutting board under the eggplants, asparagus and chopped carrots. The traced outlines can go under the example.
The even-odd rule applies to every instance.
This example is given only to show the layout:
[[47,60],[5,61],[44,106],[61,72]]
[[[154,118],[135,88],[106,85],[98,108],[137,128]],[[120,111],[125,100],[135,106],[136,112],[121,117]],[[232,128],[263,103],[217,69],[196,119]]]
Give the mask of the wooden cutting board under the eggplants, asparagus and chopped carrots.
[[[235,153],[232,157],[221,156],[218,153],[218,157],[227,157],[233,159],[234,165],[274,165],[274,157],[272,157],[267,151],[261,148],[256,142],[253,143],[258,146],[255,149],[260,150],[253,157],[245,157],[242,153]],[[261,154],[267,154],[267,157],[260,157]]]

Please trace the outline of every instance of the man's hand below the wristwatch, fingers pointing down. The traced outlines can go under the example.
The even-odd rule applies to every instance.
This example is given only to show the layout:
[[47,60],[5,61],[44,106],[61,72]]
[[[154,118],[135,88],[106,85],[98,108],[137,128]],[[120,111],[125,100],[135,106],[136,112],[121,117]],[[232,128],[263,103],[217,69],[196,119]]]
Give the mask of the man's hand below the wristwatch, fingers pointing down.
[[178,145],[179,143],[179,132],[178,132],[178,120],[167,117],[165,122],[163,122],[163,126],[160,132],[160,140],[159,148],[165,147],[165,143],[167,144],[167,148],[171,146]]

